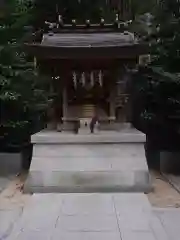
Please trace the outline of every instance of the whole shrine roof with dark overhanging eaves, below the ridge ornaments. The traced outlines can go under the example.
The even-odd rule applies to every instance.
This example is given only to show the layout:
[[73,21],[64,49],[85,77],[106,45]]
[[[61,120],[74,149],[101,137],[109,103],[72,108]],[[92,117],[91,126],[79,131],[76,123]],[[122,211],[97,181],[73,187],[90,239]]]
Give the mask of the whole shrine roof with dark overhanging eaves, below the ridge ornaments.
[[39,59],[136,58],[149,51],[147,44],[127,31],[47,33],[40,42],[25,47]]

